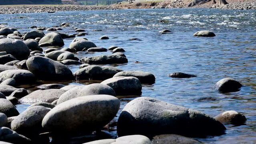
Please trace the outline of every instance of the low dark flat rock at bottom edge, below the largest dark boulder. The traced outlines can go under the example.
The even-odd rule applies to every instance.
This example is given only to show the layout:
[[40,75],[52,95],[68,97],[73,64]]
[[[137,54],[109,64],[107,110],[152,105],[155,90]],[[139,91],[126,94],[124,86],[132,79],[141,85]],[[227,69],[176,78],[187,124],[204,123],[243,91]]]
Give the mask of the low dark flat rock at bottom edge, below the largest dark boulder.
[[177,134],[161,134],[153,137],[153,144],[202,144],[198,140]]

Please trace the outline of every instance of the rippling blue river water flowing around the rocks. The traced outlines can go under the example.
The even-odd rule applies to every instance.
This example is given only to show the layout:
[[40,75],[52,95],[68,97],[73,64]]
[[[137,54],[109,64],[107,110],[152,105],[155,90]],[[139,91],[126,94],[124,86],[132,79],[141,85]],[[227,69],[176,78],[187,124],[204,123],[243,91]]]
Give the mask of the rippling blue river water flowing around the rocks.
[[[164,22],[159,22],[163,20]],[[226,134],[198,138],[214,144],[256,143],[256,11],[214,9],[141,9],[69,11],[56,13],[0,15],[0,22],[28,32],[29,26],[51,27],[62,22],[71,27],[60,32],[75,34],[73,27],[83,28],[83,36],[97,46],[116,45],[126,50],[129,62],[118,65],[123,70],[143,70],[156,77],[155,84],[143,85],[142,95],[199,110],[216,116],[227,110],[241,112],[244,125],[225,124]],[[172,34],[159,34],[169,29]],[[96,32],[93,30],[102,30]],[[211,30],[216,37],[193,37],[198,30]],[[44,31],[46,33],[46,31]],[[103,35],[109,40],[99,40]],[[129,38],[139,38],[131,41]],[[65,39],[69,47],[73,39]],[[46,49],[46,48],[44,48]],[[111,54],[97,52],[77,57]],[[137,62],[136,62],[137,61]],[[79,66],[69,66],[73,72]],[[195,78],[169,78],[172,72],[196,74]],[[219,93],[214,84],[226,77],[244,85],[240,91]],[[88,81],[58,82],[88,84]],[[30,86],[31,89],[34,86]],[[29,89],[28,88],[28,89]],[[199,100],[212,97],[208,100]],[[121,109],[134,97],[119,97]],[[29,105],[18,104],[20,112]],[[120,112],[119,112],[120,113]],[[119,114],[118,114],[119,115]],[[116,131],[111,132],[116,135]]]

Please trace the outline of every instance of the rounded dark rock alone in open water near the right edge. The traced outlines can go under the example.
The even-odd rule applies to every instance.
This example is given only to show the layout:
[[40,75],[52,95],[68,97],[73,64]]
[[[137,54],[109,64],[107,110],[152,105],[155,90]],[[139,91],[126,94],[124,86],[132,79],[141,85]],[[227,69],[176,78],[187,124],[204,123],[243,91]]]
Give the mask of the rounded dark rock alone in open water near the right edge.
[[236,92],[242,87],[242,84],[233,78],[223,78],[215,85],[220,92]]

